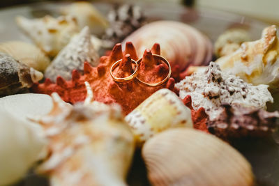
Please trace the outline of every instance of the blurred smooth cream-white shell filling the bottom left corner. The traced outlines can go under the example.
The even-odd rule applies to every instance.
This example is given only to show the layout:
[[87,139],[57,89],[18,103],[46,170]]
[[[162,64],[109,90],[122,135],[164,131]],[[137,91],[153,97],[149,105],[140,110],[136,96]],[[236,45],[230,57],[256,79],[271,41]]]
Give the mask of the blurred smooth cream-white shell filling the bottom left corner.
[[[2,102],[1,102],[2,103]],[[0,185],[10,185],[25,176],[40,159],[46,141],[41,127],[0,108]]]

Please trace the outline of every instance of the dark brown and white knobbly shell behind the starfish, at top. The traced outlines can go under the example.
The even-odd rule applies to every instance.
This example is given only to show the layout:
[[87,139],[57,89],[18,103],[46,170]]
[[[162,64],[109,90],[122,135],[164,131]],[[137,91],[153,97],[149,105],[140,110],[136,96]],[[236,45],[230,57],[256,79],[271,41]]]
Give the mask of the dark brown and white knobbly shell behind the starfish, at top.
[[130,33],[146,24],[142,8],[125,3],[114,6],[107,14],[107,20],[109,20],[110,26],[103,35],[103,47],[110,49],[116,43],[123,41]]

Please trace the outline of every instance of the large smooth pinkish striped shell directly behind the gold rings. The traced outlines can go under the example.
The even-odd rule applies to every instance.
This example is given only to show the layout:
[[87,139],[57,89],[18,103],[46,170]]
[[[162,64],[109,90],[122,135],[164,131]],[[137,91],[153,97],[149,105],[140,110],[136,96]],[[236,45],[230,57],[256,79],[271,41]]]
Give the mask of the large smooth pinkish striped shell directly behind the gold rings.
[[144,49],[160,44],[161,55],[172,67],[185,70],[188,65],[207,65],[212,57],[212,45],[197,29],[174,21],[151,22],[128,36],[122,43],[133,42],[140,56]]

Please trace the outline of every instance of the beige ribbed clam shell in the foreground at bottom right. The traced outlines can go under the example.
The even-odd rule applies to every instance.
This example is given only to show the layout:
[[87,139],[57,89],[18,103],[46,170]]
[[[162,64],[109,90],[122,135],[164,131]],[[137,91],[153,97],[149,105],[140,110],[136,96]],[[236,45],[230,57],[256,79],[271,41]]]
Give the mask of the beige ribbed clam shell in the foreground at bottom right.
[[187,186],[253,185],[248,161],[212,134],[170,129],[146,141],[142,155],[151,184]]

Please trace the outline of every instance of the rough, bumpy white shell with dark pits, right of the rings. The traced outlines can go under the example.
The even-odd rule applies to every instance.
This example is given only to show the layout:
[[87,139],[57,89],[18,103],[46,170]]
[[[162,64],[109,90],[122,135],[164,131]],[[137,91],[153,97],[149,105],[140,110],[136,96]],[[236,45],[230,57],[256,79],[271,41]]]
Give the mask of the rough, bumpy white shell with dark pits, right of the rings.
[[239,77],[220,70],[218,63],[211,62],[205,72],[194,73],[175,84],[181,99],[190,95],[195,110],[204,107],[209,116],[216,114],[221,104],[241,105],[266,109],[266,102],[273,102],[268,86],[253,86]]

